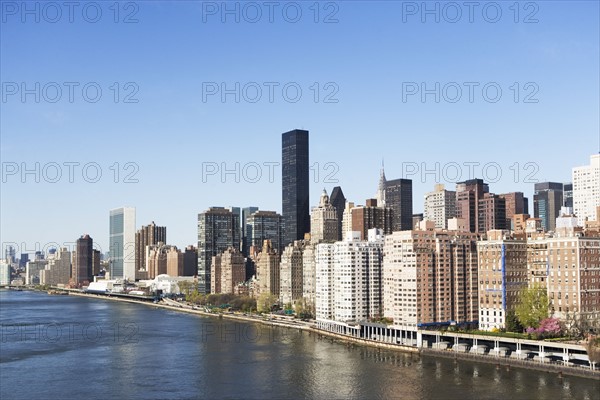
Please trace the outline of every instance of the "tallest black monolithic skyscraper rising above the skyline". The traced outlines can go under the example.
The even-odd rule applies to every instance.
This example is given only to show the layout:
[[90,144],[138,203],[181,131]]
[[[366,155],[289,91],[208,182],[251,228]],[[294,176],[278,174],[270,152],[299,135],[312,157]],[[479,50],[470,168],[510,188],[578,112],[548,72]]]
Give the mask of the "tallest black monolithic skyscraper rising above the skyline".
[[282,214],[284,246],[310,232],[308,131],[282,135]]

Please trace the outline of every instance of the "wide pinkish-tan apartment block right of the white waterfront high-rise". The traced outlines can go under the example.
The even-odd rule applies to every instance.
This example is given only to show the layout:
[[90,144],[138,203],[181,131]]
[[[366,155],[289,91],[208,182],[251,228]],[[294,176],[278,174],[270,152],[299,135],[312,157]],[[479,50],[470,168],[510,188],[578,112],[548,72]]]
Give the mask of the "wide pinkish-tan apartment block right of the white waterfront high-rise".
[[441,231],[423,221],[385,237],[384,316],[406,330],[476,325],[476,235]]

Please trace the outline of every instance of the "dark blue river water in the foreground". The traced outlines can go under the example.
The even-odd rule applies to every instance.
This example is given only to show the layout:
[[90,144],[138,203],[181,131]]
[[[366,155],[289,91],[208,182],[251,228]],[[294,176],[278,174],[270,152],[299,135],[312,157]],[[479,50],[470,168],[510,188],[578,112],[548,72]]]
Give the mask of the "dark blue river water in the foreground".
[[600,399],[600,381],[320,340],[142,304],[0,290],[0,398]]

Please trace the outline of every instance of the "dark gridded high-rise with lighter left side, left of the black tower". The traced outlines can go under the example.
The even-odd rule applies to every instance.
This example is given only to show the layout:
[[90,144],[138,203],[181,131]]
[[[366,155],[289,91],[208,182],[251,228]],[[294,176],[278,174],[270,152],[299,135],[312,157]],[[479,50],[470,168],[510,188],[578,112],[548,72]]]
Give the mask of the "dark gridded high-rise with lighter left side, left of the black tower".
[[200,293],[210,293],[211,262],[229,247],[238,248],[238,215],[223,207],[211,207],[198,214],[198,286]]

